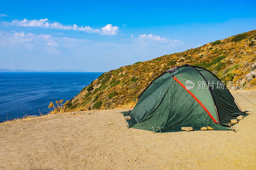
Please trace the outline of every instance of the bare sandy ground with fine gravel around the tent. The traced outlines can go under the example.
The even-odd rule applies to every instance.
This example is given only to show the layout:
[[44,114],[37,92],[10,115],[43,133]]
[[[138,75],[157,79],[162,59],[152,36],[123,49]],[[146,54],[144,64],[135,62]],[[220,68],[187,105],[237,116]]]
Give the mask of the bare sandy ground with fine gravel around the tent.
[[[256,91],[239,93],[255,103]],[[243,110],[253,108],[237,132],[128,129],[122,110],[1,123],[0,169],[253,169],[256,107],[232,94]]]

